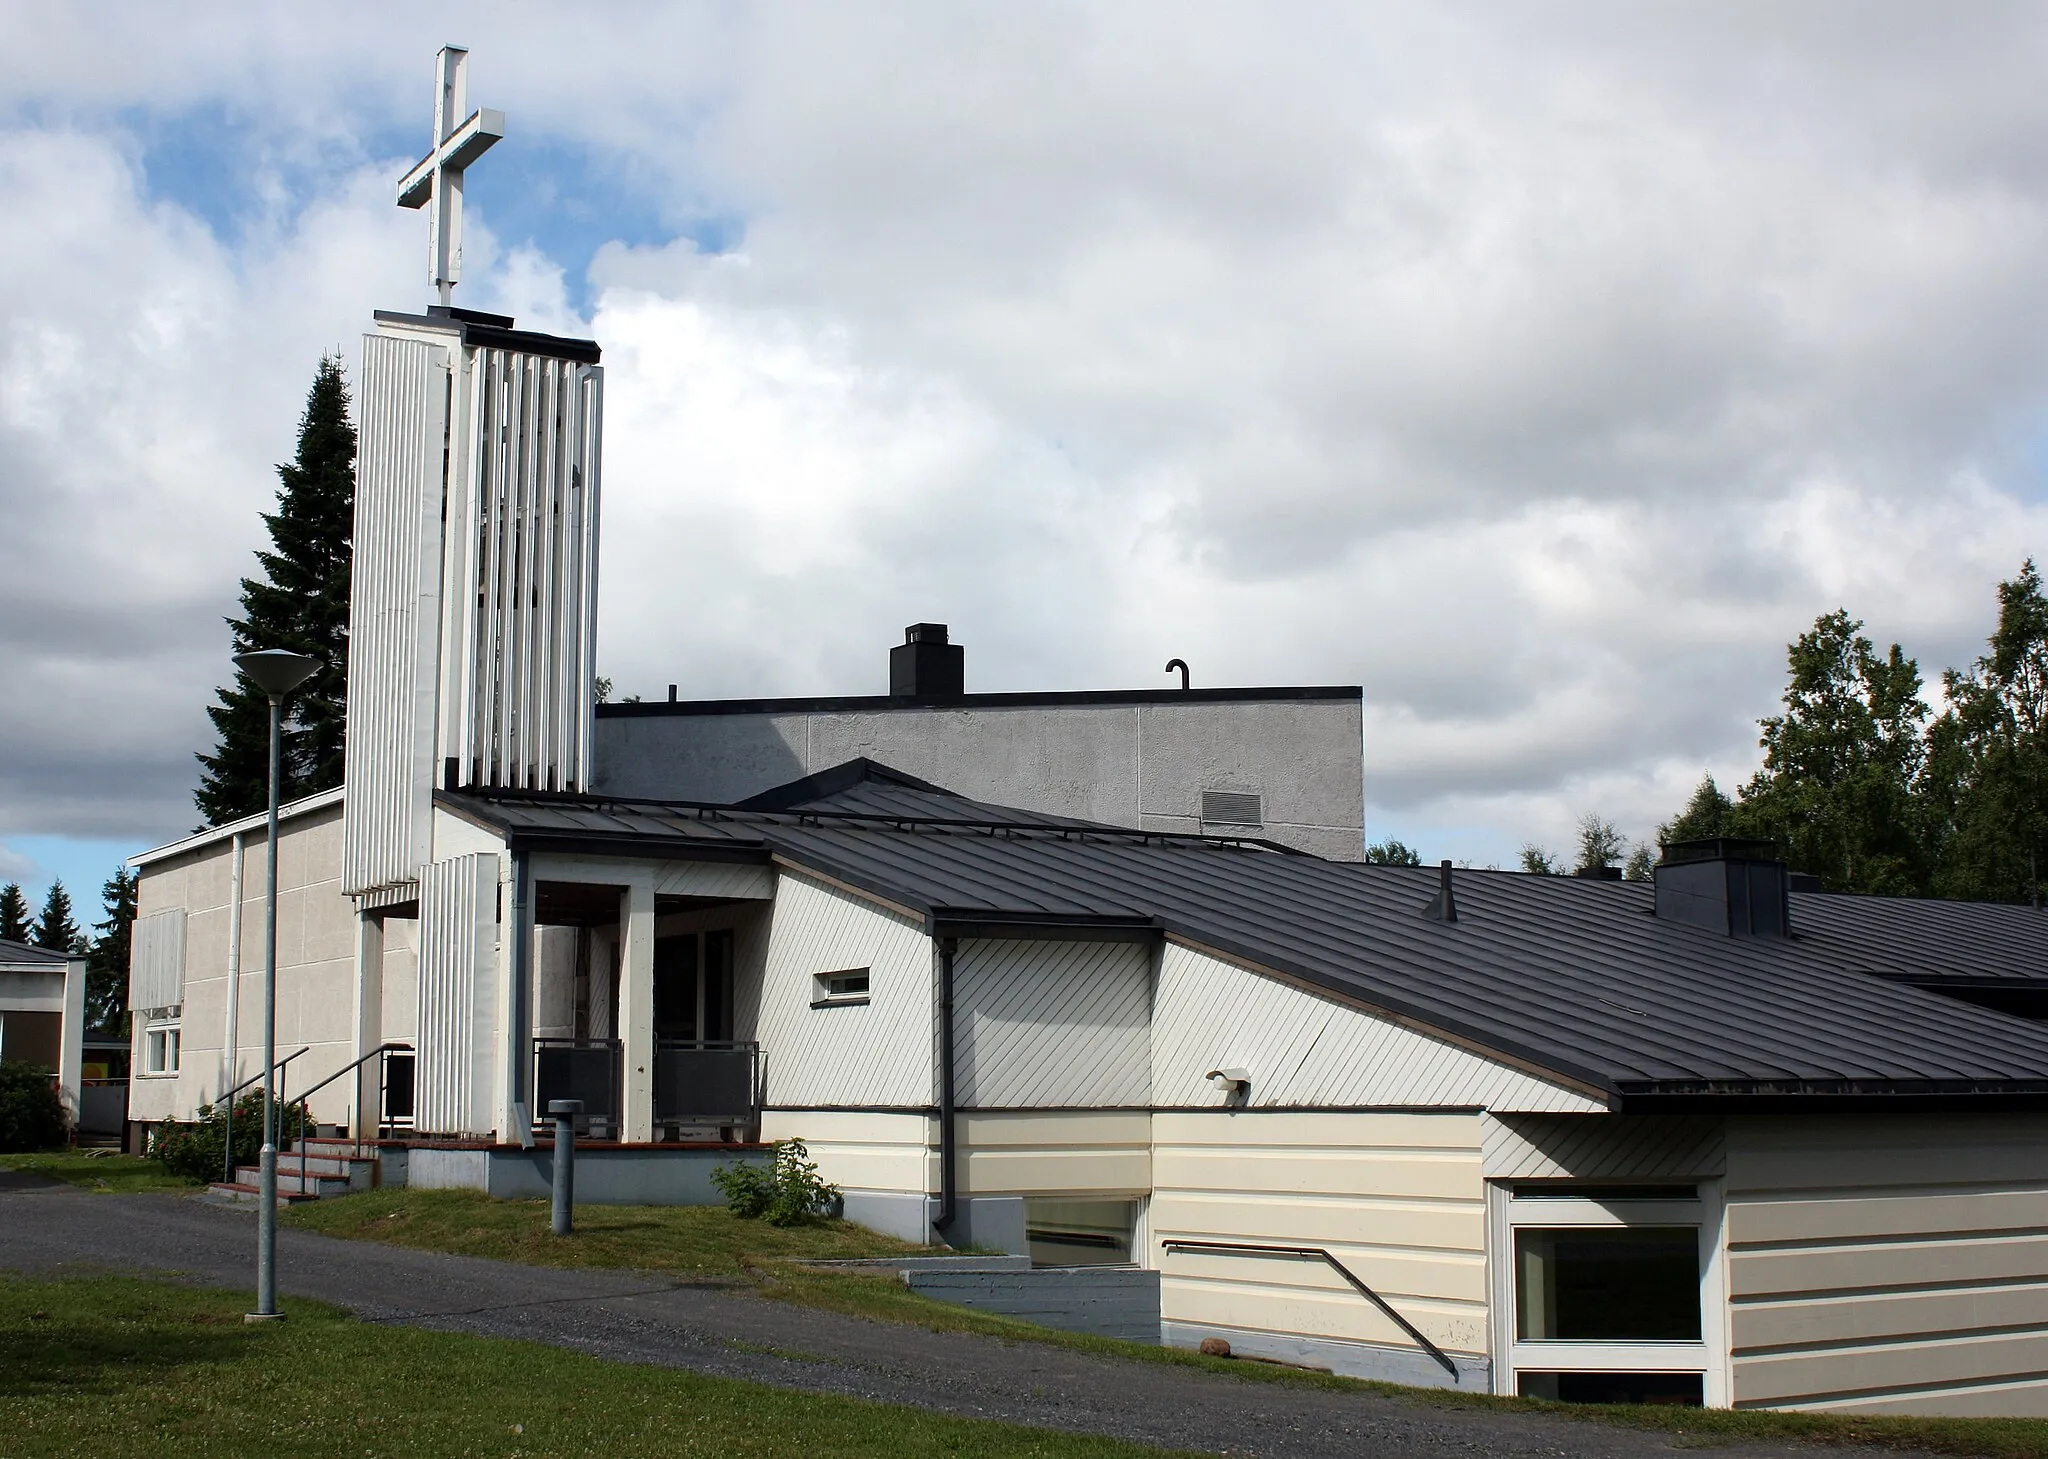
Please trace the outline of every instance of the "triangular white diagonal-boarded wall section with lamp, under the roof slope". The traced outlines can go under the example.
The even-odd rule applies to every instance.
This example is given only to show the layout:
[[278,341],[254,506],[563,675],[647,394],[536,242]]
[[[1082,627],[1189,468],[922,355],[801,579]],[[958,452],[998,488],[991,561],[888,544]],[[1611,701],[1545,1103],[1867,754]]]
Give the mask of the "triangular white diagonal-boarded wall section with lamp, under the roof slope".
[[1262,1109],[1606,1109],[1579,1090],[1167,943],[1153,1006],[1153,1100],[1221,1104],[1223,1094],[1202,1076],[1225,1068],[1251,1076],[1249,1100]]

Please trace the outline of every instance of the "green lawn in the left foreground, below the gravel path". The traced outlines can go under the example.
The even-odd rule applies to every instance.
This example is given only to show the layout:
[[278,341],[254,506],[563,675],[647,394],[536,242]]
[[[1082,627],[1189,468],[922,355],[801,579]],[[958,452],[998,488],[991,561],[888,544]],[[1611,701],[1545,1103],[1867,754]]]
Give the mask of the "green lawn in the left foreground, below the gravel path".
[[1106,1439],[356,1322],[131,1277],[0,1277],[8,1455],[1157,1455]]

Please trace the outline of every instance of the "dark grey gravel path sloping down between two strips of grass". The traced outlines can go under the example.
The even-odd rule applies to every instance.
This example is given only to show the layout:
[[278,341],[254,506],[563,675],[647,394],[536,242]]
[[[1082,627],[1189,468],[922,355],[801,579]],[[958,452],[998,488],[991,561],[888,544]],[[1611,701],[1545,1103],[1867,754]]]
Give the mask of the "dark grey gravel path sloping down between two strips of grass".
[[[49,1273],[86,1264],[244,1287],[252,1283],[254,1250],[254,1211],[246,1207],[90,1195],[0,1172],[0,1268]],[[369,1322],[526,1338],[623,1363],[686,1367],[1167,1449],[1272,1459],[1634,1459],[1696,1445],[1565,1418],[1438,1410],[1368,1393],[1245,1383],[1034,1342],[938,1334],[766,1301],[723,1283],[516,1266],[293,1229],[279,1234],[279,1262],[287,1293],[332,1301]],[[1714,1453],[1749,1459],[1845,1451],[1743,1445]],[[1913,1459],[1903,1451],[1884,1455]]]

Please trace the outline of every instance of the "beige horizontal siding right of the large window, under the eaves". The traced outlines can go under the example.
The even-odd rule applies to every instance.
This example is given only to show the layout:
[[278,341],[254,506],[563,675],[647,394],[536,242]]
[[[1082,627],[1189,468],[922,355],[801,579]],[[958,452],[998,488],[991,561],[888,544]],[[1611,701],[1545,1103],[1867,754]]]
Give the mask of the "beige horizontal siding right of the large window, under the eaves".
[[2048,1414],[2048,1119],[1731,1121],[1735,1404]]

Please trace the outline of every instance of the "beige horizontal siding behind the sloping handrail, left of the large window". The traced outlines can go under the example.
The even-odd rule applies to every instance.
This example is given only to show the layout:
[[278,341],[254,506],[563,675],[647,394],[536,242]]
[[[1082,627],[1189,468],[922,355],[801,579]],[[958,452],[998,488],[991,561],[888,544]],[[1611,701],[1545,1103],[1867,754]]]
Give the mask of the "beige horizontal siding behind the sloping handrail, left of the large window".
[[1161,1242],[1321,1246],[1450,1352],[1487,1350],[1477,1115],[1153,1115],[1161,1318],[1415,1346],[1321,1262]]

